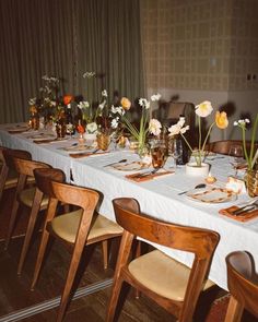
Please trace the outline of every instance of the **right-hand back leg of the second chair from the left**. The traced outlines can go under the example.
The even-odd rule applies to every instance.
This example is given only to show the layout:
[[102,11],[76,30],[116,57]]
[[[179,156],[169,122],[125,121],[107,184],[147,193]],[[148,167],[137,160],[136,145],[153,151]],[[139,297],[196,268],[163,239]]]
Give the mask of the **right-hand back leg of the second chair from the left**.
[[42,191],[36,189],[34,201],[33,201],[33,206],[31,210],[30,219],[28,219],[28,224],[27,224],[27,229],[26,229],[24,241],[23,241],[22,252],[21,252],[20,261],[19,261],[19,265],[17,265],[17,275],[21,275],[21,272],[23,269],[24,260],[25,260],[25,257],[27,253],[27,249],[28,249],[31,239],[32,239],[32,235],[34,231],[37,214],[40,208],[42,200],[43,200],[43,193],[42,193]]

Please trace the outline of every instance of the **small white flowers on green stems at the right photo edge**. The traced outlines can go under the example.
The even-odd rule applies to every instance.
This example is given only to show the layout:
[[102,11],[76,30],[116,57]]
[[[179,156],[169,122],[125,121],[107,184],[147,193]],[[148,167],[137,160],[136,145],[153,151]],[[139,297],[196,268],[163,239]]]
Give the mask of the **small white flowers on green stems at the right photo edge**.
[[257,138],[257,128],[258,128],[258,115],[256,115],[255,124],[251,131],[251,141],[250,141],[250,150],[247,152],[246,146],[246,124],[250,123],[249,119],[238,120],[234,122],[234,126],[239,127],[242,129],[242,138],[243,138],[243,150],[245,159],[247,162],[248,170],[253,170],[255,164],[258,159],[258,150],[255,151],[256,138]]

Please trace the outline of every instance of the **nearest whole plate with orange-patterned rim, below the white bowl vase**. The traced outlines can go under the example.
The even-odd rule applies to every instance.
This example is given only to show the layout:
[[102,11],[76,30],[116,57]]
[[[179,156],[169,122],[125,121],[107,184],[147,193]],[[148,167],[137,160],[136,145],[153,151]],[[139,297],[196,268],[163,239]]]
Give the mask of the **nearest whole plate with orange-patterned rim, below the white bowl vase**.
[[223,188],[195,189],[188,191],[186,195],[190,200],[204,203],[228,202],[236,198],[235,193]]

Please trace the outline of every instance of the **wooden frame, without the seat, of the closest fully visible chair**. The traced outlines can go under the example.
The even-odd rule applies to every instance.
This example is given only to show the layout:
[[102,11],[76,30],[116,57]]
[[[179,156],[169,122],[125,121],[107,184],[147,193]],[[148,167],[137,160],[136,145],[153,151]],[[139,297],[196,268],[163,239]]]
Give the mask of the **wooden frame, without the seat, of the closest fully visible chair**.
[[[124,234],[106,321],[110,322],[114,320],[124,281],[177,317],[178,321],[191,321],[198,297],[203,288],[203,282],[207,278],[213,252],[220,239],[219,234],[208,229],[173,225],[148,217],[140,213],[140,206],[133,199],[115,199],[113,203],[117,223],[124,228]],[[174,301],[148,289],[129,272],[130,250],[132,241],[137,236],[151,242],[195,254],[184,301]]]

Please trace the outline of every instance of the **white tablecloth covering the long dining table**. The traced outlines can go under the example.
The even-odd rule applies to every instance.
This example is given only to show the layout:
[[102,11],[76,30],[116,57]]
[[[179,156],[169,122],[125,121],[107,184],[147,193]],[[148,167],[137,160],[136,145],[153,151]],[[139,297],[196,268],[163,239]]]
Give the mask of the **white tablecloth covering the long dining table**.
[[[202,227],[220,234],[220,242],[215,250],[210,267],[209,278],[220,287],[227,289],[225,257],[235,250],[246,250],[254,257],[258,266],[258,218],[242,223],[221,215],[221,208],[231,205],[241,205],[250,198],[246,193],[238,194],[222,203],[206,203],[192,200],[183,191],[194,189],[203,178],[186,175],[185,167],[173,166],[168,157],[165,168],[169,174],[153,178],[152,180],[136,182],[126,176],[132,170],[122,171],[107,166],[112,163],[126,159],[127,163],[139,160],[138,155],[129,148],[112,148],[103,154],[95,153],[91,156],[71,157],[67,147],[75,146],[77,139],[40,143],[33,140],[35,132],[13,132],[9,129],[13,124],[0,126],[0,144],[11,148],[22,148],[32,153],[33,159],[61,168],[67,181],[78,186],[87,187],[103,194],[99,212],[115,220],[112,200],[120,196],[136,198],[143,213],[155,218],[171,223]],[[40,131],[38,131],[40,132]],[[37,132],[36,132],[37,134]],[[224,187],[227,176],[233,174],[228,156],[211,155],[207,162],[211,165],[211,172],[216,177],[216,182],[211,187]],[[142,171],[148,171],[143,169]],[[192,254],[160,247],[160,250],[190,266]]]

